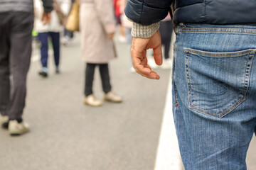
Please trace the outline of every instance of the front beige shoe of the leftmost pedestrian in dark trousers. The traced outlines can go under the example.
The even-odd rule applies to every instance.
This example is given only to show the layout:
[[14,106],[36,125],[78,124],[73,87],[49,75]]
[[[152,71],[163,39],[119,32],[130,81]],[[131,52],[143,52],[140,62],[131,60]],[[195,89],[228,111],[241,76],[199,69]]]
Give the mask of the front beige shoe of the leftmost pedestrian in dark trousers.
[[10,120],[8,130],[10,135],[22,135],[29,131],[29,126],[27,123],[18,123],[17,120]]

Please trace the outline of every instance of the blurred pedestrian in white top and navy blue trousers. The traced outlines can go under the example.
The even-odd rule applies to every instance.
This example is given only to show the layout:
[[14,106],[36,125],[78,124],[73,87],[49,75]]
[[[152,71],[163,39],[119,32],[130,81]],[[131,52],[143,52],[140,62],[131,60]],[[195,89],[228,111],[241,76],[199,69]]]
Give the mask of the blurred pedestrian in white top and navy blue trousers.
[[[44,25],[41,21],[43,15],[43,5],[40,0],[34,0],[35,8],[35,24],[34,29],[38,32],[38,40],[41,42],[41,64],[42,70],[38,74],[46,78],[48,77],[48,56],[49,45],[53,46],[53,56],[55,62],[55,73],[60,73],[60,31],[63,30],[63,23],[57,14],[57,9],[61,10],[61,5],[64,1],[54,0],[54,9],[51,12],[52,19],[50,23]],[[61,13],[62,11],[60,11]],[[49,39],[50,38],[50,39]],[[50,43],[51,42],[51,43]]]

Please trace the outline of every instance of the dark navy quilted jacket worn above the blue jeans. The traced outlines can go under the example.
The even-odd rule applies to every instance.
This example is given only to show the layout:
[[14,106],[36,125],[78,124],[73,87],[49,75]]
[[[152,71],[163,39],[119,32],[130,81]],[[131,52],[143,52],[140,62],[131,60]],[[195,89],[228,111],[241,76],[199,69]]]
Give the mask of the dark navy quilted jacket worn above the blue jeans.
[[174,23],[253,24],[255,0],[128,0],[125,13],[147,26],[165,18],[173,6]]

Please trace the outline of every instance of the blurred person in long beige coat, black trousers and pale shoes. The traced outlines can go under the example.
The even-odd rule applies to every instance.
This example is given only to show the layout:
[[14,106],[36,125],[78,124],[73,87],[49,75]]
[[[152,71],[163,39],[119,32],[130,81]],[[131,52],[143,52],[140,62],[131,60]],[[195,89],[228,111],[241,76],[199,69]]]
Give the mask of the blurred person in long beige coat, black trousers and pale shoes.
[[107,64],[116,57],[112,41],[115,31],[112,0],[80,0],[80,31],[82,60],[86,63],[84,103],[102,105],[92,92],[96,66],[100,67],[105,101],[122,102],[122,98],[112,92]]

